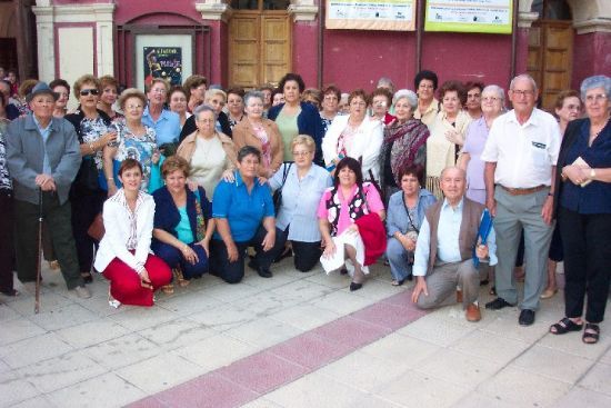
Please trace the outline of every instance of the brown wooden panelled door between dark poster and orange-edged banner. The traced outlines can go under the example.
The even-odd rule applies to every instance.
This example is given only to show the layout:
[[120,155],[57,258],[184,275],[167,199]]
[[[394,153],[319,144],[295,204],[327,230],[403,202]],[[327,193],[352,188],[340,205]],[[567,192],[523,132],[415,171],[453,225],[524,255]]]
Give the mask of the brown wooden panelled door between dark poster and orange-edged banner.
[[290,0],[232,0],[229,84],[246,89],[278,84],[291,70]]

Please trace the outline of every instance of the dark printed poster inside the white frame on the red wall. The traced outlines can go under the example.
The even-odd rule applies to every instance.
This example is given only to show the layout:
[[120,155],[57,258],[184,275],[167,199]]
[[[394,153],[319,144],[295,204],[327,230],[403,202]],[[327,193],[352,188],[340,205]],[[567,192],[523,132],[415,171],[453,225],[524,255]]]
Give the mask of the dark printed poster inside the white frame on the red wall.
[[181,47],[143,47],[144,84],[153,78],[166,79],[170,84],[182,83]]

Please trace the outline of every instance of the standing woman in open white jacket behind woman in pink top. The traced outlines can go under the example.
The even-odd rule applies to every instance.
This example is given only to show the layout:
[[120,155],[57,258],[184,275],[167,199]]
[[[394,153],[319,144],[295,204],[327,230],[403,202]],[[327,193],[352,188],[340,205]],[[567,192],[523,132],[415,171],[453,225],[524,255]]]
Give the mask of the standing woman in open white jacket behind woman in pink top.
[[365,180],[379,180],[378,157],[382,147],[383,129],[379,120],[367,115],[369,97],[357,89],[348,97],[350,115],[338,116],[322,140],[322,155],[329,171],[344,157],[361,162]]

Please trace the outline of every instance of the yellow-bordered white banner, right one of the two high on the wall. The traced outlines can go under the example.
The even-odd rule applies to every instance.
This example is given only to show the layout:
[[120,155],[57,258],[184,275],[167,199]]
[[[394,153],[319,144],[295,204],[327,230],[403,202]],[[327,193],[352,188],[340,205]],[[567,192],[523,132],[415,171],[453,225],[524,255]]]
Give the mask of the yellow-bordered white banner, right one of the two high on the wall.
[[510,34],[512,0],[427,0],[424,31]]

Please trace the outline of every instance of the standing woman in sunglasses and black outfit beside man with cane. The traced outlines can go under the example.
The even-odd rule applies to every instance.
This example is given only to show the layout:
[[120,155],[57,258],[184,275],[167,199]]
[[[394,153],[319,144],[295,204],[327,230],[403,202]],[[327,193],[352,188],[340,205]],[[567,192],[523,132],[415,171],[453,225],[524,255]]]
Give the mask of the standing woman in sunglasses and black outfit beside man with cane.
[[86,74],[74,82],[74,97],[79,107],[66,119],[74,126],[79,137],[81,167],[70,189],[72,208],[72,235],[77,242],[79,268],[86,283],[92,281],[93,245],[98,245],[88,233],[89,226],[102,211],[107,191],[100,186],[103,179],[102,150],[114,141],[117,133],[109,130],[111,119],[99,110],[100,81]]

